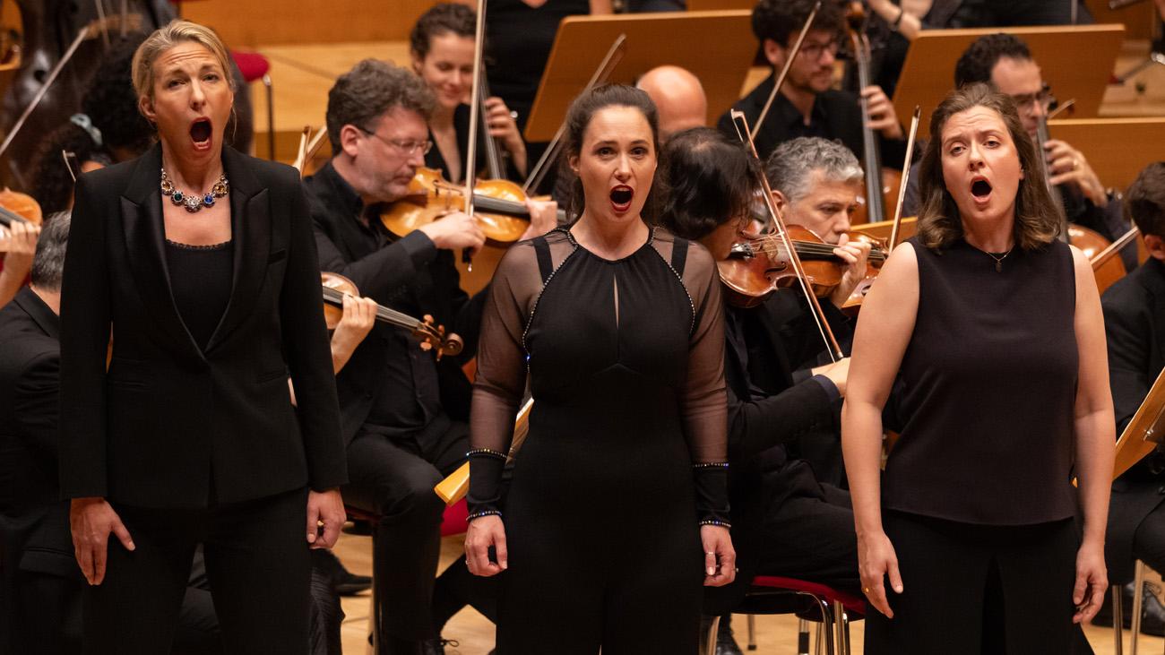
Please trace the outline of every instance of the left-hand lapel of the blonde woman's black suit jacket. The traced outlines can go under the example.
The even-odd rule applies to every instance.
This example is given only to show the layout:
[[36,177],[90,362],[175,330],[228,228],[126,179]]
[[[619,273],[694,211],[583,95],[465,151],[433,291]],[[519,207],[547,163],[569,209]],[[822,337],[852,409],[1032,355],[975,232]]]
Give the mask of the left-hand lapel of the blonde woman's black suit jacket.
[[186,330],[170,288],[170,270],[165,265],[165,224],[162,219],[162,147],[154,146],[137,161],[133,177],[121,196],[121,219],[125,225],[126,251],[134,283],[142,303],[175,343],[189,344],[198,352]]

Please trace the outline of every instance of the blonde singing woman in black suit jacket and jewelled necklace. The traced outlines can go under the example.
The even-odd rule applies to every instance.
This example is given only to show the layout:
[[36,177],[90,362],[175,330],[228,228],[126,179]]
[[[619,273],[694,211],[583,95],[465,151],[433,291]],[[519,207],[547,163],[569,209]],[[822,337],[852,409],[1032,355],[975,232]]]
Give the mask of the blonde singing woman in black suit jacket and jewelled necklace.
[[77,184],[61,488],[91,585],[86,652],[167,652],[203,542],[228,649],[304,653],[308,544],[344,521],[308,205],[291,168],[223,148],[227,62],[206,28],[155,31],[133,69],[158,146]]

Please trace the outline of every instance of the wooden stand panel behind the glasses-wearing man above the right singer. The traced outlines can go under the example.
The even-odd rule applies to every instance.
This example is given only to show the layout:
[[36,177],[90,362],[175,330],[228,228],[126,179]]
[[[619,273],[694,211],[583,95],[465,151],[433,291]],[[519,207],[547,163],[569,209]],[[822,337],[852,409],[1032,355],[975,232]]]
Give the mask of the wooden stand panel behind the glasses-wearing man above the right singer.
[[1075,99],[1075,115],[1096,115],[1121,51],[1123,24],[923,30],[910,44],[894,94],[899,117],[909,117],[916,105],[923,108],[920,139],[930,133],[934,108],[954,87],[954,65],[963,50],[980,36],[1000,31],[1028,43],[1052,93]]

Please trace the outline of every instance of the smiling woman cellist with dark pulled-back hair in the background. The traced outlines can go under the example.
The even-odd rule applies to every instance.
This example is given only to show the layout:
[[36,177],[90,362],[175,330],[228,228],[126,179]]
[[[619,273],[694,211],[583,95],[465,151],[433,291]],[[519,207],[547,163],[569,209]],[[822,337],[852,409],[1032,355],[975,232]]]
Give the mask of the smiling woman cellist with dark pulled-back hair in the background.
[[[469,89],[473,85],[473,57],[476,14],[457,2],[435,5],[421,15],[409,35],[412,71],[437,96],[437,107],[429,118],[430,140],[437,146],[425,155],[428,168],[440,170],[446,179],[465,178],[465,153],[469,140]],[[513,172],[527,174],[525,142],[509,107],[501,98],[485,100],[480,120],[488,126],[508,155]],[[478,147],[481,155],[485,146]],[[483,160],[482,160],[483,161]],[[480,168],[480,162],[479,162]]]

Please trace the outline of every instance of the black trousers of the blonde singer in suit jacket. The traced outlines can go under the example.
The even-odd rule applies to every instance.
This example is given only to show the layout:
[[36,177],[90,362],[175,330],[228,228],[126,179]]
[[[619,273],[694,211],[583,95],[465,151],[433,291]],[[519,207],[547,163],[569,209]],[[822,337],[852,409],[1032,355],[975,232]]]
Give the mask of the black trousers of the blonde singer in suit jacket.
[[86,655],[165,654],[200,542],[226,653],[305,654],[308,490],[207,509],[113,503],[135,549],[110,537],[105,582],[86,586]]

